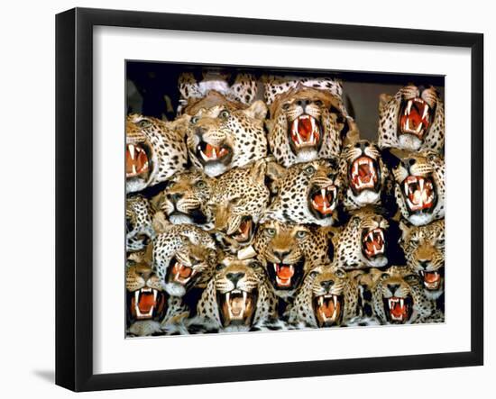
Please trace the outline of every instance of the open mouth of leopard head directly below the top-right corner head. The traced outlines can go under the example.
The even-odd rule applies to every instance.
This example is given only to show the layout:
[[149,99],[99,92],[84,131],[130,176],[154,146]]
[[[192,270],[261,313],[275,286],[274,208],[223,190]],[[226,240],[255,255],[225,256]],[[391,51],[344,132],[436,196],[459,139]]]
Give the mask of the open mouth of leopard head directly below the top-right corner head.
[[402,186],[410,212],[432,211],[436,204],[436,190],[430,177],[409,176]]

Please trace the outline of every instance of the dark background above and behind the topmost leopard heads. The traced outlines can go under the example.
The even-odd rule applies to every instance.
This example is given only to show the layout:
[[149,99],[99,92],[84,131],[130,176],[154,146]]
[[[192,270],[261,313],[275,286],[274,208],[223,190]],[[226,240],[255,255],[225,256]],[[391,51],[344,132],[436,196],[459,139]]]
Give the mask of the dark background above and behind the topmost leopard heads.
[[[441,96],[444,96],[445,86],[445,77],[439,75],[230,67],[128,60],[126,62],[126,112],[142,113],[168,120],[174,119],[179,101],[179,74],[192,71],[197,79],[201,79],[201,72],[204,68],[220,68],[231,72],[232,76],[238,72],[250,72],[256,77],[271,74],[339,78],[343,81],[344,101],[348,113],[354,117],[362,137],[369,140],[377,138],[379,95],[382,93],[394,95],[401,86],[413,83],[436,86]],[[257,97],[262,99],[262,94],[262,85],[259,85]],[[170,101],[166,101],[166,95]]]

